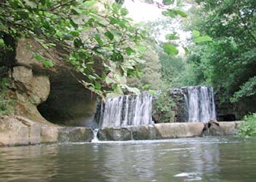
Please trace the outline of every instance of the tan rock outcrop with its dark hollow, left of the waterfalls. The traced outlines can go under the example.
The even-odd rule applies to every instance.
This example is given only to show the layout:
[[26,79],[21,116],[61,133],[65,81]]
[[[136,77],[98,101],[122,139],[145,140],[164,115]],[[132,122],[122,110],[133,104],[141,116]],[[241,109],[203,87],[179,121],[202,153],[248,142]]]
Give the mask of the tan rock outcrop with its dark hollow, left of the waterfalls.
[[[57,50],[58,49],[58,50]],[[55,66],[45,68],[36,61],[33,51],[39,51],[51,59]],[[48,51],[31,39],[19,39],[9,77],[11,94],[15,95],[15,114],[42,124],[65,124],[69,126],[96,127],[96,96],[86,90],[77,80],[85,79],[65,61],[61,48]],[[1,57],[0,57],[1,59]],[[1,62],[1,60],[0,60]],[[5,61],[7,62],[7,61]],[[95,71],[101,75],[99,58]],[[6,63],[7,64],[7,63]]]

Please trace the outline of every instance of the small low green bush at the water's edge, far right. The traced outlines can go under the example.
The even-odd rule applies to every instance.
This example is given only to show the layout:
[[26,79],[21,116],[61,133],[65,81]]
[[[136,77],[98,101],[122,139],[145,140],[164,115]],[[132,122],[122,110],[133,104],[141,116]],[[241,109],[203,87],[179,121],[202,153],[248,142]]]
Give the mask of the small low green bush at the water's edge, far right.
[[239,136],[256,136],[256,113],[243,118],[244,123],[239,128]]

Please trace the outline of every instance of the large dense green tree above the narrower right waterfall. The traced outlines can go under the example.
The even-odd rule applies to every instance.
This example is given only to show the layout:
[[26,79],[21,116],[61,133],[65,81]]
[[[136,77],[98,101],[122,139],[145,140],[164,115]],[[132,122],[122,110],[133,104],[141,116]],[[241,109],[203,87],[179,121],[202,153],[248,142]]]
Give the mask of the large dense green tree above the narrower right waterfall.
[[[256,3],[253,0],[198,0],[199,9],[192,8],[189,29],[199,30],[214,39],[202,45],[191,45],[187,80],[210,84],[221,90],[221,101],[238,101],[255,96],[256,67]],[[198,36],[198,32],[193,32]],[[208,39],[208,38],[207,38]],[[201,51],[200,51],[201,49]],[[199,50],[193,51],[193,50]],[[198,65],[196,68],[195,65]],[[200,76],[201,75],[201,76]],[[201,78],[201,79],[200,79]]]

